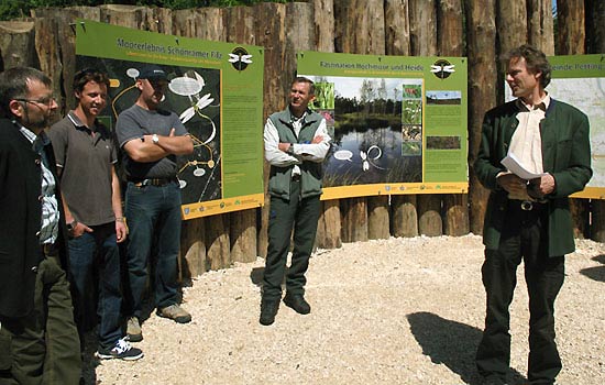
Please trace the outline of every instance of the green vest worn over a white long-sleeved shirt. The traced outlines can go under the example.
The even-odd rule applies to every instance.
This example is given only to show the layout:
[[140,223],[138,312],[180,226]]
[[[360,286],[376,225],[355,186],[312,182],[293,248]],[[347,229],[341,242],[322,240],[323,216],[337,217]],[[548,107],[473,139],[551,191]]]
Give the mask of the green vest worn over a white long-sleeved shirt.
[[[317,112],[307,111],[298,138],[294,132],[288,109],[275,112],[268,117],[279,134],[279,142],[283,143],[311,143],[319,124],[323,120]],[[300,196],[302,198],[321,195],[321,178],[323,177],[323,167],[321,163],[300,160]],[[294,165],[287,167],[271,166],[268,179],[268,193],[272,196],[289,200],[292,169]]]

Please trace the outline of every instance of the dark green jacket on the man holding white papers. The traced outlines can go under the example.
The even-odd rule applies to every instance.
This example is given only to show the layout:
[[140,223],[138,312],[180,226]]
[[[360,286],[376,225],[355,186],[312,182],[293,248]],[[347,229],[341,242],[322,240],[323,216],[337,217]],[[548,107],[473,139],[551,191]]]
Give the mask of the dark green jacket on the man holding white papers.
[[[481,146],[474,172],[483,186],[491,189],[483,224],[483,243],[497,249],[508,205],[507,191],[496,184],[506,168],[501,161],[507,155],[513,133],[519,124],[515,101],[496,107],[485,114]],[[547,196],[548,255],[559,256],[575,250],[568,197],[581,191],[592,176],[588,119],[576,108],[551,99],[540,122],[544,173],[554,177],[556,188]]]

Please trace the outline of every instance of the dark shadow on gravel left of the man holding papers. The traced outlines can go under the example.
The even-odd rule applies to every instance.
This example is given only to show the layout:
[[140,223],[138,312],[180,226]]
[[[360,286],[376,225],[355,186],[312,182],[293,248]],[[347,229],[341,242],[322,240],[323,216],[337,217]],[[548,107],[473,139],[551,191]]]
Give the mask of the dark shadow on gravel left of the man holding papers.
[[[411,333],[422,353],[436,364],[443,364],[460,375],[465,384],[479,385],[482,377],[475,369],[475,352],[482,331],[464,323],[441,318],[432,312],[414,312],[407,316]],[[522,384],[517,371],[510,376],[514,384]]]

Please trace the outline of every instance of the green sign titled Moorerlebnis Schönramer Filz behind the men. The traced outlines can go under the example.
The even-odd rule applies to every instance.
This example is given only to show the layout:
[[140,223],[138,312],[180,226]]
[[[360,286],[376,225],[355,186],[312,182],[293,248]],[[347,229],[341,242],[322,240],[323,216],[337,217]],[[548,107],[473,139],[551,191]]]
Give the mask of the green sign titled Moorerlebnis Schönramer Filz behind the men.
[[179,116],[194,141],[194,153],[178,157],[185,219],[263,205],[262,47],[79,20],[76,55],[76,69],[97,68],[111,79],[101,117],[109,128],[139,97],[145,65],[168,75],[162,108]]

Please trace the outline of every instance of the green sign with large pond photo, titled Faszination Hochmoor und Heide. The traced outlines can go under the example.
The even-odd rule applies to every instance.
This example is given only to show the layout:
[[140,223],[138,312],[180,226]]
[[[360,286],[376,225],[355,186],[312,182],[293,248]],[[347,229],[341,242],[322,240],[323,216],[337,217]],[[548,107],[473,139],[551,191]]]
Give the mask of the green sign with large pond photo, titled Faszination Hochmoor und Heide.
[[469,190],[466,58],[297,54],[328,123],[322,199]]

